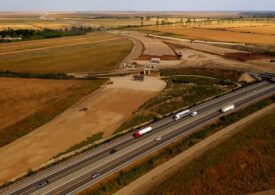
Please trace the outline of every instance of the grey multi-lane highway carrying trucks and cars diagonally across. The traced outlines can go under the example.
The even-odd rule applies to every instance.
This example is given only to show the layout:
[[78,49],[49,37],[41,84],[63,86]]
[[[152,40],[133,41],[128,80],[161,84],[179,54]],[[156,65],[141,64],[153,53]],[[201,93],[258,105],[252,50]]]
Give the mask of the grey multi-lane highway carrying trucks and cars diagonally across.
[[[144,157],[225,115],[220,112],[221,107],[235,104],[236,109],[239,109],[274,93],[275,84],[265,81],[239,89],[191,108],[191,111],[199,113],[195,117],[187,117],[179,121],[167,117],[151,124],[153,131],[141,138],[135,139],[132,133],[126,134],[14,183],[0,190],[0,194],[75,194],[121,170],[136,159]],[[162,139],[156,141],[157,137],[162,137]],[[117,152],[110,154],[113,148]],[[100,173],[100,176],[93,179],[92,173]],[[38,189],[37,185],[46,180],[49,183]]]

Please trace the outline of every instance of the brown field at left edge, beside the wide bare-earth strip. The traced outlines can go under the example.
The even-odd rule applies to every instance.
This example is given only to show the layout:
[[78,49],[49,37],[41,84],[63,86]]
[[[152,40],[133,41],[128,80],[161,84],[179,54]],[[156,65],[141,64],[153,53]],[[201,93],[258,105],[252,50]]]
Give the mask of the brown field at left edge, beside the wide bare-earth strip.
[[103,82],[0,78],[0,147],[50,121]]

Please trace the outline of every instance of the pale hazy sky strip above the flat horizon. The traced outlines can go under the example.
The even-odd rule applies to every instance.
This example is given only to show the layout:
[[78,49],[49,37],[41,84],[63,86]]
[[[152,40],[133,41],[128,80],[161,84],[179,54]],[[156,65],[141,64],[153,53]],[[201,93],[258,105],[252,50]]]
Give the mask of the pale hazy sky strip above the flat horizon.
[[275,0],[0,0],[0,11],[275,11]]

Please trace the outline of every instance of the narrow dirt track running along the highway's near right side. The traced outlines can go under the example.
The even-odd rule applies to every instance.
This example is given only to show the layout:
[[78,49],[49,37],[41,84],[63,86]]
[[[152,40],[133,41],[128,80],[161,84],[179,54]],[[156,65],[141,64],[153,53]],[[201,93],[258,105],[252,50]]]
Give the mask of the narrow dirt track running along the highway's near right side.
[[144,176],[138,178],[134,182],[130,183],[128,186],[122,188],[114,195],[138,195],[146,194],[147,190],[151,187],[165,180],[165,178],[173,175],[178,169],[184,166],[186,163],[192,161],[194,158],[203,154],[205,151],[215,147],[219,143],[222,143],[229,137],[241,131],[242,127],[247,125],[247,123],[253,121],[255,118],[261,117],[263,114],[268,114],[270,111],[275,109],[275,104],[260,110],[241,121],[230,125],[227,128],[220,130],[214,135],[204,139],[193,147],[185,150],[181,154],[177,155],[175,158],[165,162],[164,164],[158,166],[152,171],[148,172]]

